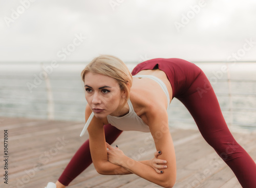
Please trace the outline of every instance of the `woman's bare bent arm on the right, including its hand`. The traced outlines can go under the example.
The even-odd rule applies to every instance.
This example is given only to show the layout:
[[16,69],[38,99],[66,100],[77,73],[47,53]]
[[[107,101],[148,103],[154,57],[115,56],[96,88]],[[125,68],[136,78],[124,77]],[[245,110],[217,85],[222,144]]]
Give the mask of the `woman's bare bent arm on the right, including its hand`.
[[176,158],[172,137],[168,128],[168,115],[166,109],[152,108],[146,113],[148,126],[154,138],[157,151],[162,151],[158,158],[167,160],[167,169],[164,169],[163,174],[158,174],[156,171],[147,165],[144,165],[136,160],[133,160],[122,153],[118,148],[108,147],[109,161],[116,165],[120,165],[134,174],[156,183],[163,187],[173,187],[176,181]]

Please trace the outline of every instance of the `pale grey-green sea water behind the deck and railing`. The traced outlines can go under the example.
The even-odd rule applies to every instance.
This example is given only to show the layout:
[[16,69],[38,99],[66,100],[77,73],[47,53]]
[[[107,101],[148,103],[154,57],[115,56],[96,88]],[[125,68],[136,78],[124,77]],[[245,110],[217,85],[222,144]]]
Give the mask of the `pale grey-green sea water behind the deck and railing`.
[[[210,80],[227,124],[256,128],[256,63],[194,63]],[[130,70],[136,64],[126,63]],[[82,62],[0,63],[0,116],[84,122],[87,102],[80,72],[85,66]],[[169,126],[196,127],[176,98],[168,116]]]

